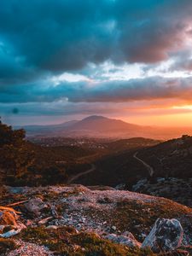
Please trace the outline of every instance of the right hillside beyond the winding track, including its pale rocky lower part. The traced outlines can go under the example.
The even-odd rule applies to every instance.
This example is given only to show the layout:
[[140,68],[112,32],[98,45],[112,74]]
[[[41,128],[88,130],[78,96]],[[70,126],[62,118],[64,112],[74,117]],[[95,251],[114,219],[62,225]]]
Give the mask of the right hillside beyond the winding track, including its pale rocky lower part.
[[138,151],[137,156],[153,169],[150,179],[141,179],[133,191],[157,195],[192,206],[192,137],[183,136]]

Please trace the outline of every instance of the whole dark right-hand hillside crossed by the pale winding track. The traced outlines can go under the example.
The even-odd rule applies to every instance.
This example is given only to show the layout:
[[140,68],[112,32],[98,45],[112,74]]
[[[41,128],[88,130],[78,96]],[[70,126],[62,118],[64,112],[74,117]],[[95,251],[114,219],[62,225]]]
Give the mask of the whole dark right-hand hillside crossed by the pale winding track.
[[[79,178],[76,183],[117,186],[192,207],[192,137],[183,136],[164,143],[154,141],[154,145],[146,140],[143,146],[142,139],[137,145],[137,139],[139,141],[135,138],[109,143],[109,148],[121,145],[124,150],[97,160],[96,172]],[[128,148],[129,145],[132,147]]]

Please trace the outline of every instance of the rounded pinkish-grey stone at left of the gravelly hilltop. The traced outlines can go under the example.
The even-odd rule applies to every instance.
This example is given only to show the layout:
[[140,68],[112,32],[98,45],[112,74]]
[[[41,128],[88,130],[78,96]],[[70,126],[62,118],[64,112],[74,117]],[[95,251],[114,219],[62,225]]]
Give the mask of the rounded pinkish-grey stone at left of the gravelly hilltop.
[[39,215],[39,213],[47,208],[48,206],[42,201],[40,198],[36,197],[29,201],[27,201],[24,205],[28,212],[32,212],[35,215]]

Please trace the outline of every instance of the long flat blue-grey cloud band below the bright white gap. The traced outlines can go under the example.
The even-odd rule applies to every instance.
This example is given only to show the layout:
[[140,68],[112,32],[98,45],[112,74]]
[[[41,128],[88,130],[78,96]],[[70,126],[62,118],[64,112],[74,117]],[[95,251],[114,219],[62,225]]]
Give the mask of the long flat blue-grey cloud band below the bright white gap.
[[192,78],[113,80],[101,82],[61,82],[49,80],[34,84],[0,87],[0,102],[131,102],[164,98],[189,99]]

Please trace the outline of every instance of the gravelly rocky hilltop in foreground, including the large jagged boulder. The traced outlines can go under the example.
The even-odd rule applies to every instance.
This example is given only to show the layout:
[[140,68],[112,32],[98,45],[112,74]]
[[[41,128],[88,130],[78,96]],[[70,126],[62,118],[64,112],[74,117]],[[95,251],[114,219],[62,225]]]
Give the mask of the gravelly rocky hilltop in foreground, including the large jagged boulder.
[[[94,239],[98,236],[102,242],[125,251],[143,252],[145,249],[140,247],[151,247],[154,253],[163,251],[165,255],[169,255],[177,253],[177,248],[185,250],[180,248],[182,240],[183,245],[192,245],[192,209],[165,198],[124,190],[94,190],[82,185],[25,187],[21,192],[17,191],[17,200],[20,195],[26,195],[27,202],[19,201],[21,203],[18,205],[17,201],[12,205],[22,212],[19,219],[15,218],[16,224],[18,225],[19,221],[26,224],[26,230],[20,233],[23,241],[26,237],[23,234],[30,234],[27,236],[28,241],[34,242],[39,232],[51,235],[53,232],[61,234],[61,230],[64,230],[62,236],[64,242],[68,242],[67,236],[71,232],[69,229],[73,228],[75,234],[92,234],[89,236],[93,236]],[[23,200],[23,196],[21,199]],[[164,216],[169,219],[165,219]],[[9,237],[18,232],[19,228],[15,228],[0,231],[0,234],[2,237]],[[16,240],[17,236],[14,239]],[[143,241],[143,245],[140,241]],[[70,242],[70,247],[76,246]],[[47,244],[47,241],[42,244]],[[81,246],[81,243],[79,245]]]

